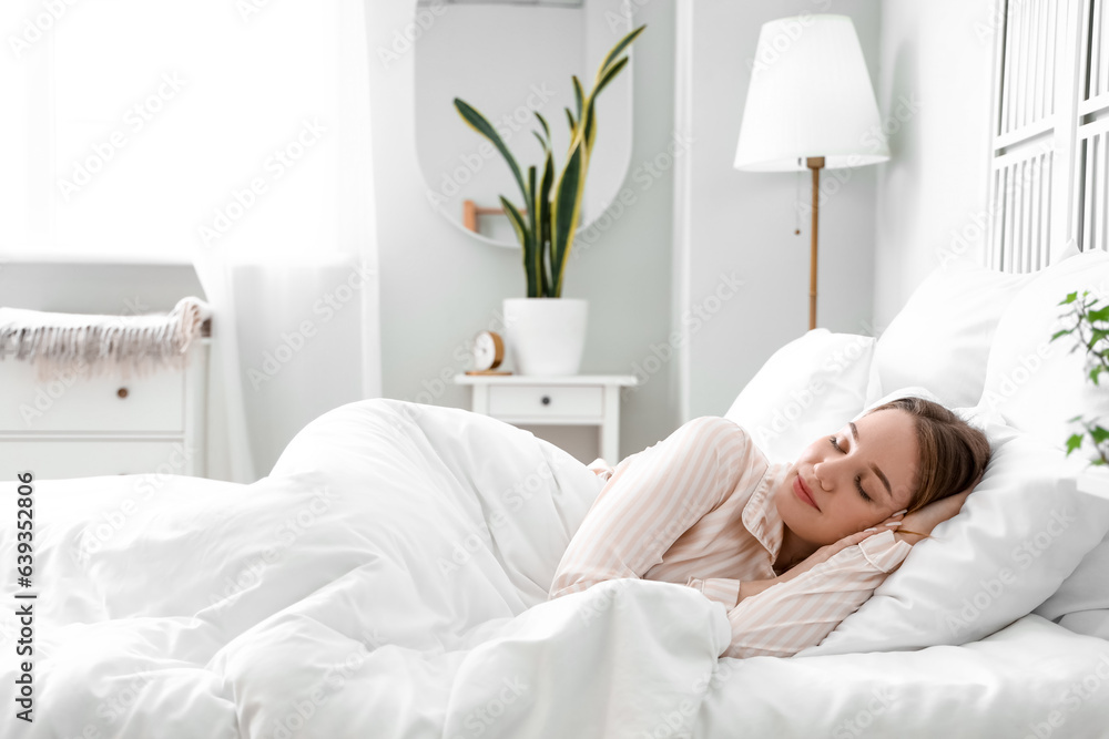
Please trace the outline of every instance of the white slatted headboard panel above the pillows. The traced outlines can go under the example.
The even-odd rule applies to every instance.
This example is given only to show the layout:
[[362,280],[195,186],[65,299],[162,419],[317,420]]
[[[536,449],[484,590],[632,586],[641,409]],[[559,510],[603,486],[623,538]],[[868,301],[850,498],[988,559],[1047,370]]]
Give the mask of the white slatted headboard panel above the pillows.
[[1109,250],[1109,0],[999,0],[987,265]]

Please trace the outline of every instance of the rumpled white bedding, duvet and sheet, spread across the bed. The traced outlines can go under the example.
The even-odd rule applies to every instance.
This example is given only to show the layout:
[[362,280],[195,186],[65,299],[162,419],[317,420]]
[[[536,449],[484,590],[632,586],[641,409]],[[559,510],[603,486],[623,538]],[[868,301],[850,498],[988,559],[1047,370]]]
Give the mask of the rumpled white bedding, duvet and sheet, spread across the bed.
[[548,602],[599,483],[467,411],[336,409],[253,485],[35,487],[33,722],[8,700],[2,737],[1109,736],[1109,643],[1037,616],[965,647],[734,660],[723,607],[683,586]]

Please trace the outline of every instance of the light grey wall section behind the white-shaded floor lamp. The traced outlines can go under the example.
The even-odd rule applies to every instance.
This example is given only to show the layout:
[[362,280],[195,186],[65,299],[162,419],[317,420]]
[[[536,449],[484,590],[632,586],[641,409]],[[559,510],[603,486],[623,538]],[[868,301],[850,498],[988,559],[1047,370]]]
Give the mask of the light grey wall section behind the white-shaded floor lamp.
[[[688,113],[693,142],[684,216],[690,245],[685,305],[678,309],[700,309],[706,318],[690,330],[684,410],[690,418],[723,414],[763,362],[808,329],[810,217],[798,216],[797,205],[798,198],[811,203],[810,174],[732,167],[760,28],[804,12],[848,16],[876,83],[879,10],[877,0],[693,3]],[[879,110],[886,112],[881,104]],[[846,177],[820,212],[817,326],[833,331],[866,332],[871,325],[875,182],[882,166],[822,175]],[[731,275],[743,286],[719,300]]]

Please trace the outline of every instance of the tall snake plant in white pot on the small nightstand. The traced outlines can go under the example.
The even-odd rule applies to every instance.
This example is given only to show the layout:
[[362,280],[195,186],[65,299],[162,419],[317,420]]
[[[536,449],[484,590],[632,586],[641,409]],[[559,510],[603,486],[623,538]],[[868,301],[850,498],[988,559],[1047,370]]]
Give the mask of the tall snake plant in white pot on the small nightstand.
[[522,205],[503,195],[500,203],[520,242],[527,278],[527,297],[506,298],[503,304],[506,338],[516,369],[522,374],[574,374],[581,365],[588,304],[561,296],[597,136],[596,101],[628,65],[624,51],[644,28],[631,31],[609,51],[597,70],[591,92],[587,94],[577,75],[572,76],[577,111],[566,109],[570,146],[557,178],[550,126],[542,115],[536,112],[542,134],[533,132],[543,150],[542,170],[540,173],[535,165],[529,166],[525,178],[516,157],[486,116],[455,99],[459,115],[500,152],[520,188]]

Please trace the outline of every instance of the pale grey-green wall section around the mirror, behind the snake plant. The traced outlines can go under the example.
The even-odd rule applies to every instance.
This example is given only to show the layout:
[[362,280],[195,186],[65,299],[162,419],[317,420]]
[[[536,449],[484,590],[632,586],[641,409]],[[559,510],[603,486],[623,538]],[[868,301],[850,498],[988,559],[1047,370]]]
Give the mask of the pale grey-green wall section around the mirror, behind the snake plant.
[[[674,9],[671,2],[638,4],[634,24],[648,29],[634,44],[625,204],[579,237],[567,267],[563,296],[589,299],[582,373],[637,372],[652,356],[650,347],[664,343],[670,330],[673,160],[667,152],[673,146]],[[526,283],[518,250],[474,239],[428,204],[416,155],[409,39],[419,28],[415,21],[434,24],[436,16],[423,9],[427,12],[417,19],[415,10],[415,2],[367,4],[383,388],[390,398],[468,408],[469,389],[451,384],[450,378],[468,369],[470,340],[481,329],[500,327],[501,300],[522,296]],[[672,371],[673,363],[664,362],[644,372],[644,384],[625,396],[623,454],[673,430]]]

